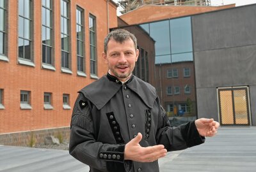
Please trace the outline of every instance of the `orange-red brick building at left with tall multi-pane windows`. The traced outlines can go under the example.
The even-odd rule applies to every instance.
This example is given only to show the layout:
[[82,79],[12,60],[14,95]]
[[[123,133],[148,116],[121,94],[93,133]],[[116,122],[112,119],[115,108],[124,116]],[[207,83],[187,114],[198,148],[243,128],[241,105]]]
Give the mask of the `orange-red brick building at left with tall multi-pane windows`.
[[116,7],[109,0],[0,1],[0,138],[68,129],[77,91],[108,71],[101,57]]

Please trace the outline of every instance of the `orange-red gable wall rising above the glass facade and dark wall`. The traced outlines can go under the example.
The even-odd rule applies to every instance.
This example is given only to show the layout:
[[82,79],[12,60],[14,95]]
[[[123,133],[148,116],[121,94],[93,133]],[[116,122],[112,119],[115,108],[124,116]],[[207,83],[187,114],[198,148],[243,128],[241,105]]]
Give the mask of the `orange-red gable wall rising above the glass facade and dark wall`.
[[136,10],[121,15],[120,18],[127,24],[141,24],[167,18],[182,17],[186,15],[195,15],[207,11],[221,10],[225,8],[235,7],[236,4],[225,6],[159,6],[144,5]]

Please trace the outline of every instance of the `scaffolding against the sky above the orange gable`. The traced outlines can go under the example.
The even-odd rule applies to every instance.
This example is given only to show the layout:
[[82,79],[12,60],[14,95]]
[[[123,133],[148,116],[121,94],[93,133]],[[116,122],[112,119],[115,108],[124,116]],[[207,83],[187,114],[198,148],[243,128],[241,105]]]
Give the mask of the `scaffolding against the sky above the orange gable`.
[[211,6],[211,0],[118,0],[122,14],[143,6],[145,4],[173,5],[173,6]]

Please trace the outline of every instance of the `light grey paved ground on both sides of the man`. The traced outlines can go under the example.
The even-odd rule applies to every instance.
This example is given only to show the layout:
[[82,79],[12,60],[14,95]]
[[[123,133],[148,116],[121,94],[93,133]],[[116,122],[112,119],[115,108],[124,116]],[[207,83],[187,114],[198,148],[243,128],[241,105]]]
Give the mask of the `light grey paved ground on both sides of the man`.
[[[255,172],[256,127],[221,127],[213,138],[159,159],[161,172]],[[89,167],[67,150],[0,146],[0,171],[86,172]]]

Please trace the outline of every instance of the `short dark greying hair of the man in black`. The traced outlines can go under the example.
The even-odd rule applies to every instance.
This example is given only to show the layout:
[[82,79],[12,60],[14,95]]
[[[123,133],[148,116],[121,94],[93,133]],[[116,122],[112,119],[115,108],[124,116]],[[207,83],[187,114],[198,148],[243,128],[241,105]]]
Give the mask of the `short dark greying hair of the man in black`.
[[104,52],[107,53],[108,50],[108,42],[110,39],[113,39],[114,41],[118,43],[124,43],[124,41],[127,41],[131,39],[134,43],[135,50],[137,49],[137,39],[131,32],[128,32],[124,29],[115,29],[106,36],[104,39]]

